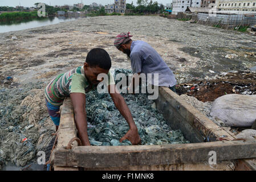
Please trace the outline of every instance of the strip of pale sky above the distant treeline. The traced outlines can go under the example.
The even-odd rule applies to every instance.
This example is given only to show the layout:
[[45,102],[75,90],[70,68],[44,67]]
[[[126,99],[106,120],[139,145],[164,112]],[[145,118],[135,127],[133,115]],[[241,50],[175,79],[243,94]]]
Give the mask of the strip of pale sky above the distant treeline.
[[[150,0],[149,0],[150,1]],[[166,5],[166,3],[170,3],[172,0],[156,0],[158,3],[162,3]],[[0,0],[0,6],[25,6],[32,7],[36,2],[43,2],[47,5],[55,6],[55,5],[74,5],[75,3],[80,3],[81,0]],[[113,4],[114,0],[82,0],[84,5],[90,5],[92,2],[100,3],[101,5]],[[132,3],[136,5],[137,0],[127,0],[127,3]],[[155,2],[153,0],[153,2]]]

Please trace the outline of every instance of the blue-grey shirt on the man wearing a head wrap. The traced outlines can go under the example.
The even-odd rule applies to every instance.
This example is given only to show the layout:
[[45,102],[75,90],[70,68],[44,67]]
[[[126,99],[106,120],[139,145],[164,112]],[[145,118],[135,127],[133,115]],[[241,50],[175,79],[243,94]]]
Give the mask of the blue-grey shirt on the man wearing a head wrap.
[[173,72],[148,43],[136,40],[131,45],[131,64],[133,73],[159,73],[159,84],[157,86],[174,86],[176,79]]

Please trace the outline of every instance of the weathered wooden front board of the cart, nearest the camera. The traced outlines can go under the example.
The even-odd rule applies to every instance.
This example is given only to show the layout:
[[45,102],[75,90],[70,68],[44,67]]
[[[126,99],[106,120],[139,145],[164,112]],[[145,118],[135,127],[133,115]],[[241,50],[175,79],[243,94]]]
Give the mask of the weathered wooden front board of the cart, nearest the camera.
[[189,164],[208,162],[212,156],[211,151],[216,154],[217,163],[255,158],[256,140],[125,147],[77,146],[71,150],[57,150],[54,163],[58,166],[85,168]]

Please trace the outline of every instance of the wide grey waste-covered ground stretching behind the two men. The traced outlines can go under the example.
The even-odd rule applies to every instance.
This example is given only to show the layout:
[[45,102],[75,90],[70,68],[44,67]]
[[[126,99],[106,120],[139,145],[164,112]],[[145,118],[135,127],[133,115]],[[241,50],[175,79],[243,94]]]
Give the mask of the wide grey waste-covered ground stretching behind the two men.
[[97,16],[0,34],[0,73],[19,83],[48,81],[82,65],[95,47],[109,53],[112,68],[131,68],[113,46],[128,31],[159,52],[178,83],[256,65],[256,36],[160,16]]

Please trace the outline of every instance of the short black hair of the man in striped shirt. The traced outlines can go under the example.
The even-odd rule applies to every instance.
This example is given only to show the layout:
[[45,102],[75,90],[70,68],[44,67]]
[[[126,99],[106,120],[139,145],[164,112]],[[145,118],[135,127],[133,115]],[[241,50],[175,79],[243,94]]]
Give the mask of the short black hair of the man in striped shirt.
[[111,68],[111,59],[108,52],[101,48],[91,49],[86,56],[86,63],[88,63],[90,67],[98,66],[102,69]]

